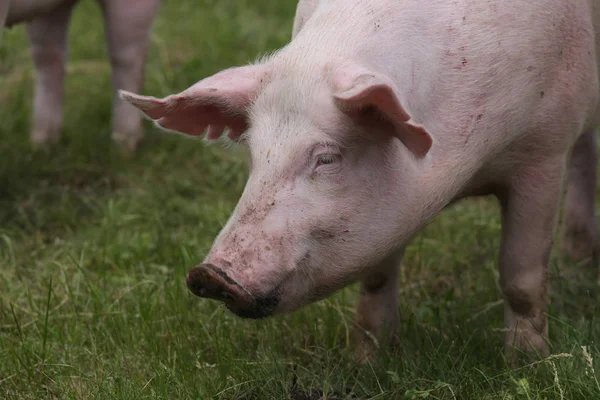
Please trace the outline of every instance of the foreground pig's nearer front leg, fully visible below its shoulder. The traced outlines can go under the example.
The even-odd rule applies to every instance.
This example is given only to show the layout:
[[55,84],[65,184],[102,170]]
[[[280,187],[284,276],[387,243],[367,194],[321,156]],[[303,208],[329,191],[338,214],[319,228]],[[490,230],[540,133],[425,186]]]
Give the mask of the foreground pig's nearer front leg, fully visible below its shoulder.
[[499,196],[500,284],[505,298],[505,349],[511,364],[517,361],[518,351],[548,353],[548,263],[565,166],[566,157],[559,155],[518,167],[508,190]]

